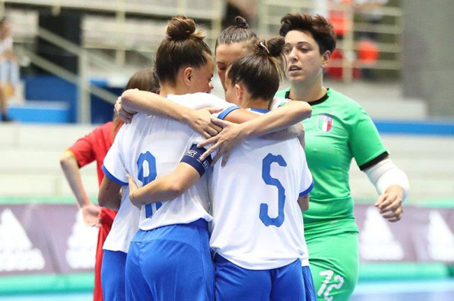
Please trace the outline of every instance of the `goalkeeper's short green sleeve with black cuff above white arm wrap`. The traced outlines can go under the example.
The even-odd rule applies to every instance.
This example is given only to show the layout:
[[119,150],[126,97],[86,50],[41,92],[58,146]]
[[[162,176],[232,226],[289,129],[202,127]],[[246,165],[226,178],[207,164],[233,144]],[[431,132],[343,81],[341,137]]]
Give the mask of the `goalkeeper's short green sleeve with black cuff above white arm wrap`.
[[349,147],[361,170],[388,156],[379,131],[364,108],[359,107],[349,120]]

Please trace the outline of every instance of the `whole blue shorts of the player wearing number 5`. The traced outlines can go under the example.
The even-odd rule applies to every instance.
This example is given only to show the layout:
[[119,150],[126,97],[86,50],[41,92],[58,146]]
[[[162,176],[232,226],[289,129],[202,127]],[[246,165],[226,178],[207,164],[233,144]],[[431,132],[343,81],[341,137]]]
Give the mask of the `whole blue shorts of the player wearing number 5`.
[[272,270],[247,270],[214,256],[217,301],[306,301],[301,260]]

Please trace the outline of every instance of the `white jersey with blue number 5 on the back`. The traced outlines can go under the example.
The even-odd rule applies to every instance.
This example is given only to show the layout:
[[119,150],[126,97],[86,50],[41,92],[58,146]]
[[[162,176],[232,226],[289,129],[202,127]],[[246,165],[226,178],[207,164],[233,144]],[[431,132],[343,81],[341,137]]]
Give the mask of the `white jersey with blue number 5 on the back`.
[[210,246],[249,270],[309,265],[298,198],[313,185],[298,139],[244,140],[212,171]]

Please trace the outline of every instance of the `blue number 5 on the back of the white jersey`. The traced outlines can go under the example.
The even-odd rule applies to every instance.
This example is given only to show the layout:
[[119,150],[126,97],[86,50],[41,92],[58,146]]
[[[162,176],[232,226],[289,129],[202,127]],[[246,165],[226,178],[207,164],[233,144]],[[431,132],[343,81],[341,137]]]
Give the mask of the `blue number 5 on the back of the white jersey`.
[[268,215],[268,204],[261,203],[260,204],[260,219],[261,221],[265,224],[265,226],[277,226],[280,227],[282,223],[284,223],[284,204],[286,201],[286,196],[285,192],[286,190],[284,189],[284,186],[282,186],[281,182],[279,182],[279,179],[274,179],[274,177],[271,177],[270,175],[270,169],[271,169],[271,164],[272,163],[278,163],[279,166],[287,166],[286,161],[282,156],[279,154],[277,156],[274,156],[273,154],[268,154],[263,158],[262,161],[262,179],[263,181],[272,186],[277,187],[277,202],[278,202],[278,214],[277,217],[270,217]]

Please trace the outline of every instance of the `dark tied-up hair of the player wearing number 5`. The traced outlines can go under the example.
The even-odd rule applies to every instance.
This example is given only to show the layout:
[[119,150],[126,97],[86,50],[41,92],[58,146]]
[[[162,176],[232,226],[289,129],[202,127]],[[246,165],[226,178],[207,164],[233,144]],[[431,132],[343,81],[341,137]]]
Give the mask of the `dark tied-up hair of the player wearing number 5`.
[[227,77],[232,85],[242,83],[252,98],[271,99],[279,89],[284,39],[272,38],[251,45],[251,52],[230,65]]

